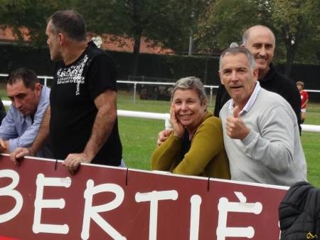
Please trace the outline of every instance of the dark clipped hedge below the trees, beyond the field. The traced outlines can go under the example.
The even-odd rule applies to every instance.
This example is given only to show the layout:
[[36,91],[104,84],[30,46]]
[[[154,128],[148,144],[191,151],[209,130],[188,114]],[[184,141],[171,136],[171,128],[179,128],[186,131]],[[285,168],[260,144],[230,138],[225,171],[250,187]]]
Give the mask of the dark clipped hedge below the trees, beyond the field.
[[[107,51],[114,58],[118,69],[118,79],[128,80],[132,53]],[[11,44],[0,45],[0,73],[10,73],[16,68],[31,68],[37,75],[53,75],[54,63],[50,60],[48,48],[34,49],[28,46]],[[207,65],[207,71],[206,71]],[[137,75],[145,78],[176,79],[186,76],[196,76],[205,79],[206,85],[218,85],[219,59],[206,56],[173,56],[161,54],[140,53]],[[276,66],[284,73],[284,63]],[[205,73],[206,72],[206,73]],[[320,90],[320,66],[310,64],[294,64],[291,78],[294,82],[302,80],[306,89]],[[311,102],[320,102],[320,93],[309,93]]]

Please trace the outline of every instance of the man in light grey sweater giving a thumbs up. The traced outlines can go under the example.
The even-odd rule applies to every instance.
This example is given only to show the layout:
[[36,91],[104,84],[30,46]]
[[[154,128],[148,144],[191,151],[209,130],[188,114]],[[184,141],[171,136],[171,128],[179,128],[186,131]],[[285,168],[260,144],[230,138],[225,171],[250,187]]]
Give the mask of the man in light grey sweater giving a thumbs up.
[[246,48],[220,56],[219,76],[231,99],[220,111],[231,179],[291,186],[306,181],[297,117],[284,98],[260,87]]

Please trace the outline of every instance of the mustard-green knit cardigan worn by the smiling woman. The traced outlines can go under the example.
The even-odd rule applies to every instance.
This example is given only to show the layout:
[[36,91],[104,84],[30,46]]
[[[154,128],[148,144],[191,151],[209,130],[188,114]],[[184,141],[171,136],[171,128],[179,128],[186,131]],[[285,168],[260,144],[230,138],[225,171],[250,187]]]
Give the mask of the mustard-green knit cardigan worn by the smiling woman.
[[230,179],[220,118],[208,111],[191,140],[190,150],[181,161],[182,141],[172,133],[166,142],[157,147],[151,157],[151,170]]

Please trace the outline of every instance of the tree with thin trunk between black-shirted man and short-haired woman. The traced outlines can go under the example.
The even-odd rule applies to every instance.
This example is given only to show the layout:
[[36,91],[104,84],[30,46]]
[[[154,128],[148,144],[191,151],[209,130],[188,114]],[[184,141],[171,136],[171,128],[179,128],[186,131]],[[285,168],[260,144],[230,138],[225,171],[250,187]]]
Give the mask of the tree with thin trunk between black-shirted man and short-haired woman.
[[191,14],[201,11],[203,0],[75,0],[83,14],[87,30],[111,34],[112,41],[119,38],[134,39],[134,52],[130,75],[136,75],[142,36],[154,45],[182,52],[194,24]]

